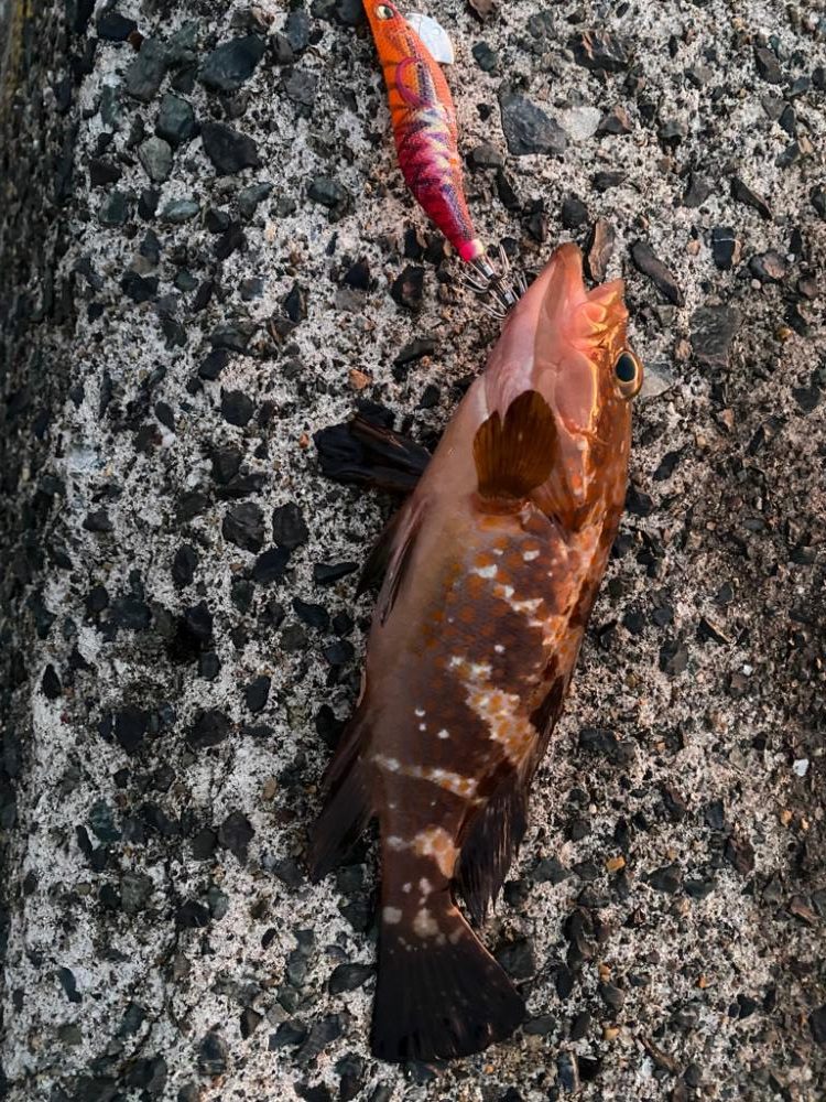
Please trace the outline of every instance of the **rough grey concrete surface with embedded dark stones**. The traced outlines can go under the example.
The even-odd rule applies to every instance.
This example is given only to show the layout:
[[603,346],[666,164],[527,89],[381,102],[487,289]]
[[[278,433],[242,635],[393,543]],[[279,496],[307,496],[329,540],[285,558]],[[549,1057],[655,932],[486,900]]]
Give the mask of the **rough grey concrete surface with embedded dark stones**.
[[[289,12],[285,10],[289,7]],[[497,323],[358,0],[0,2],[0,1095],[826,1093],[826,10],[442,0],[480,234],[628,280],[628,511],[486,943],[509,1044],[378,1065],[372,842],[319,886],[393,503]]]

